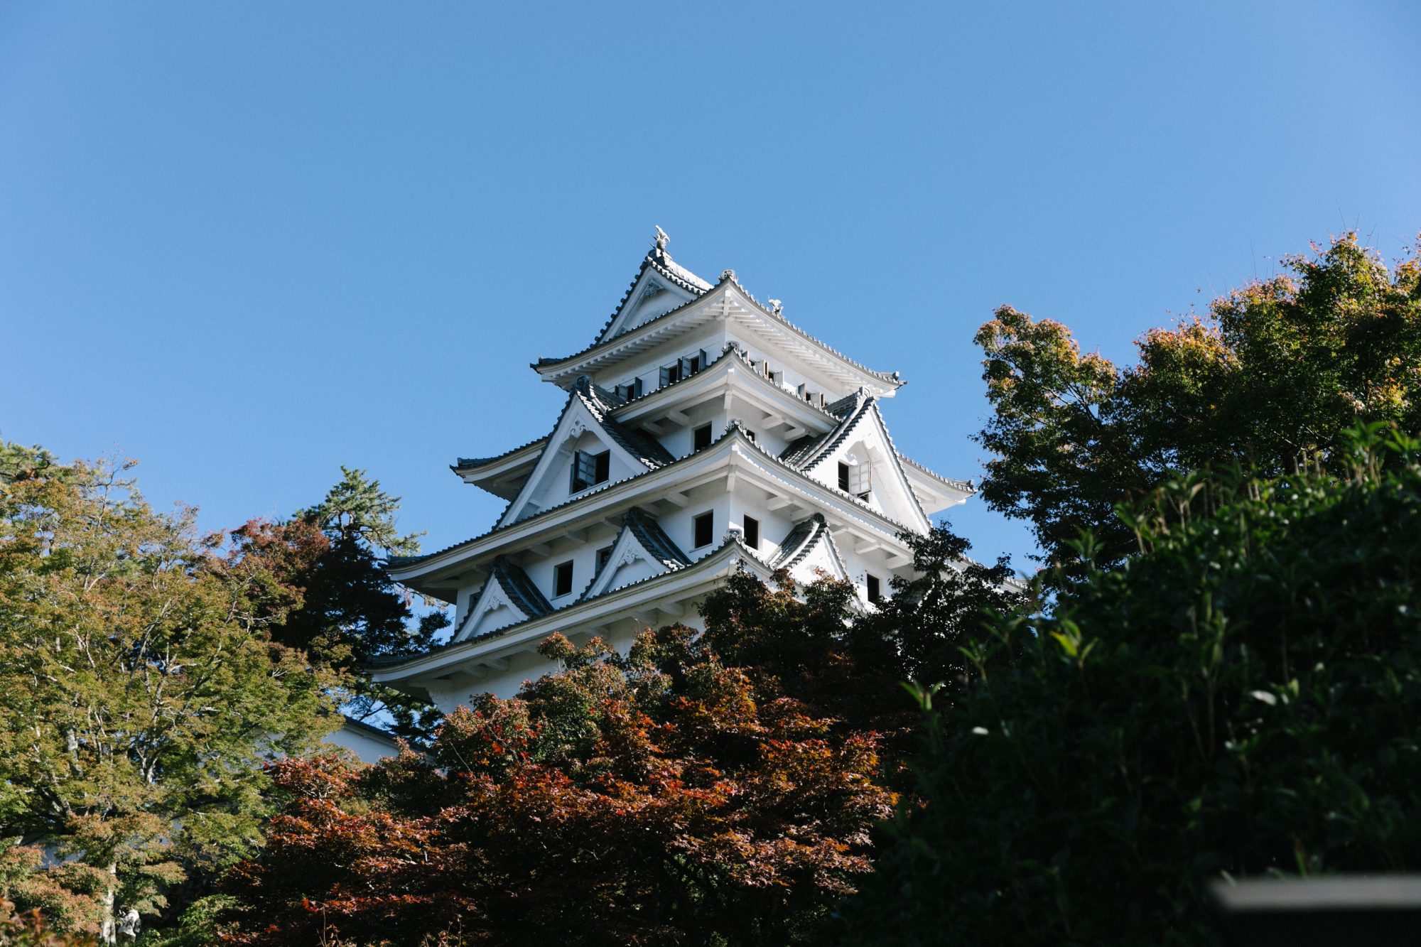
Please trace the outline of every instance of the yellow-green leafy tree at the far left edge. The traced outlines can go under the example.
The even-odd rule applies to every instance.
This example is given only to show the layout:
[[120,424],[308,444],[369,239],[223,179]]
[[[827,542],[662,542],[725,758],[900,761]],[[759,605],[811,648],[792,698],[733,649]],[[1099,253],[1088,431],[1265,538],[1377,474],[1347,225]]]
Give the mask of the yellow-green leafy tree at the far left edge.
[[331,729],[334,681],[267,636],[298,592],[199,537],[190,510],[152,512],[126,465],[16,455],[0,482],[4,893],[112,943],[121,914],[156,914],[165,889],[252,850],[260,764]]

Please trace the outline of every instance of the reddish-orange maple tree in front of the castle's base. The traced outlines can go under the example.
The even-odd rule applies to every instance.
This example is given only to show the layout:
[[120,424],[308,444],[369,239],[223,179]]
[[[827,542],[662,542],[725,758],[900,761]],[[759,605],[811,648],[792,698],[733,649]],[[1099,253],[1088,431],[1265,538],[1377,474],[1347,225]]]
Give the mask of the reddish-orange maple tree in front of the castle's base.
[[442,724],[433,759],[277,764],[290,803],[239,866],[236,944],[789,944],[865,873],[891,810],[836,732],[684,627]]

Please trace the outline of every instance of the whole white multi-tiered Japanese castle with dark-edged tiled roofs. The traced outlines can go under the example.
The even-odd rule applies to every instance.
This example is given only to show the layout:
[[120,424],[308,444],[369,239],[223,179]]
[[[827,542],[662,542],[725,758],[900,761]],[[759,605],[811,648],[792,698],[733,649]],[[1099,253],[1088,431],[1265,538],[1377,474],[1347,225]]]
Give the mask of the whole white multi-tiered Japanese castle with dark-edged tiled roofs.
[[661,228],[595,341],[533,370],[567,391],[553,431],[453,465],[506,499],[503,515],[389,562],[455,604],[453,634],[374,677],[445,712],[551,670],[537,646],[554,631],[625,650],[648,626],[698,626],[698,603],[737,569],[828,574],[872,609],[911,572],[899,533],[972,492],[894,448],[880,401],[898,373],[818,341],[735,270],[710,283],[674,263]]

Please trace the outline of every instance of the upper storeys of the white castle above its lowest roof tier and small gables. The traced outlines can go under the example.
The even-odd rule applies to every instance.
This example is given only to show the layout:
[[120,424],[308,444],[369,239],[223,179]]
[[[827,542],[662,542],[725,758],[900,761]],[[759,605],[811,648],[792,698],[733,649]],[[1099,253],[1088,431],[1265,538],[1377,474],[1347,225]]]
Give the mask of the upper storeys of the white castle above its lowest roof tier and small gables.
[[[453,465],[507,501],[503,513],[480,536],[392,562],[402,582],[468,597],[502,556],[560,607],[560,589],[601,574],[628,516],[662,529],[688,562],[729,530],[766,563],[818,516],[840,545],[901,569],[898,536],[926,532],[972,492],[898,452],[878,407],[902,385],[897,373],[811,337],[730,270],[713,284],[686,270],[659,228],[593,344],[533,368],[567,391],[551,431]],[[568,562],[571,584],[557,572]]]

